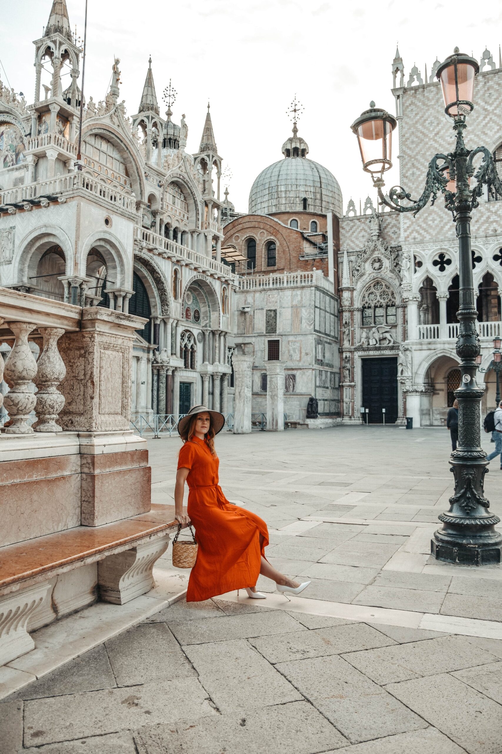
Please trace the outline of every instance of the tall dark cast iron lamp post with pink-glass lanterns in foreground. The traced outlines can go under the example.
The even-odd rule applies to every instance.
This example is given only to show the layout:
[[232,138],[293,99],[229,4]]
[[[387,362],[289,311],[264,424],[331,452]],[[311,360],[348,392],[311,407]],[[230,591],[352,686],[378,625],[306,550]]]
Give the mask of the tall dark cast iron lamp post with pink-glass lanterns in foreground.
[[[416,201],[401,186],[394,186],[388,199],[382,193],[385,185],[383,173],[391,167],[395,118],[385,110],[375,109],[371,103],[370,110],[354,121],[352,130],[361,149],[364,170],[371,173],[381,204],[397,212],[416,215],[431,196],[431,204],[434,204],[438,192],[441,192],[456,225],[460,277],[457,354],[461,360],[461,385],[455,391],[458,399],[458,449],[452,452],[450,460],[455,494],[449,498],[449,510],[439,516],[443,528],[434,532],[431,552],[438,560],[482,566],[500,562],[502,534],[494,529],[500,519],[488,512],[489,502],[483,494],[488,461],[480,444],[480,403],[484,391],[476,385],[476,356],[480,349],[474,305],[470,212],[478,207],[483,185],[488,186],[493,196],[494,191],[502,195],[502,183],[488,149],[479,146],[471,150],[464,145],[466,119],[473,110],[474,77],[478,71],[477,61],[459,53],[458,48],[437,69],[445,112],[453,120],[456,144],[453,152],[434,155],[427,170],[424,192]],[[482,160],[475,172],[473,160],[476,155],[482,155]],[[470,188],[472,177],[475,185]]]

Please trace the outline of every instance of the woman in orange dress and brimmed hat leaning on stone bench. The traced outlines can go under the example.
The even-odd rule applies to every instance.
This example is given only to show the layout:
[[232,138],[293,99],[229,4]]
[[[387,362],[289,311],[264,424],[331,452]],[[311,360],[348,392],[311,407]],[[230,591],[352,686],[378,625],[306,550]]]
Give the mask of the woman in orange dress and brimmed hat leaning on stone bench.
[[[250,510],[229,503],[218,484],[220,461],[214,436],[224,425],[224,415],[205,406],[194,406],[178,422],[184,445],[178,458],[175,486],[175,517],[181,526],[193,523],[199,544],[196,564],[190,573],[187,602],[210,599],[218,594],[245,589],[253,599],[264,599],[255,586],[258,575],[275,581],[285,595],[300,594],[309,584],[297,584],[265,558],[269,544],[266,523]],[[188,483],[187,513],[183,510],[184,484]]]

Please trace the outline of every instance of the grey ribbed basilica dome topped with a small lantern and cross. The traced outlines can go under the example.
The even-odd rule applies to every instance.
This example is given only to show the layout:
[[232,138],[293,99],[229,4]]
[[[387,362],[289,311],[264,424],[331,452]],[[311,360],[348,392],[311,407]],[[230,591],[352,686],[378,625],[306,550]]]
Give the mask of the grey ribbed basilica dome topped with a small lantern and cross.
[[283,160],[262,170],[249,192],[249,214],[269,215],[275,212],[326,214],[342,217],[342,192],[333,173],[323,165],[309,160],[309,146],[298,136],[282,145]]

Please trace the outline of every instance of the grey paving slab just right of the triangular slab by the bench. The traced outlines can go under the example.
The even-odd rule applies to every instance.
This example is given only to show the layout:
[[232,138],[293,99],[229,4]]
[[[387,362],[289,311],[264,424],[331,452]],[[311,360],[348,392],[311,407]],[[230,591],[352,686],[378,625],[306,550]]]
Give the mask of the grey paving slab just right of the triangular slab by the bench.
[[105,642],[118,686],[196,675],[165,623],[144,623]]

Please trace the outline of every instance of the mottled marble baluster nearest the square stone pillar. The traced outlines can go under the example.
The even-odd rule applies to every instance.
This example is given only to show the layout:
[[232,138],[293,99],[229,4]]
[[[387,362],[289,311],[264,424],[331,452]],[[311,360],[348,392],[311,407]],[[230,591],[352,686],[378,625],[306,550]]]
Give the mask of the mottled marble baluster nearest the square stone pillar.
[[57,348],[59,338],[65,334],[59,327],[39,327],[44,339],[44,350],[38,357],[38,373],[35,385],[37,394],[38,421],[33,425],[35,432],[62,432],[56,424],[65,397],[57,389],[57,385],[65,379],[66,367]]

